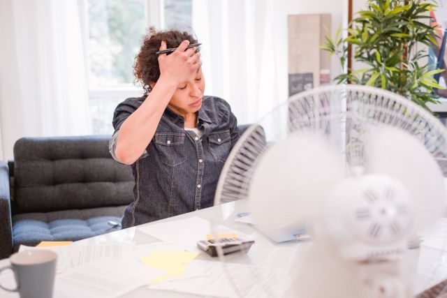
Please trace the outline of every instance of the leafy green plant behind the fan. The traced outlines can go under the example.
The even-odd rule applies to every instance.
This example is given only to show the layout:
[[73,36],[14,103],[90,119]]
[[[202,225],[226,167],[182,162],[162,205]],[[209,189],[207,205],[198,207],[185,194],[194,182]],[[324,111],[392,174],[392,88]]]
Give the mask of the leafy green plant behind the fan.
[[[338,30],[322,46],[346,70],[335,81],[387,89],[429,110],[427,103],[438,103],[434,89],[444,89],[432,77],[444,70],[430,70],[426,59],[427,47],[437,43],[436,29],[426,24],[436,7],[430,0],[367,0],[367,9],[349,25],[349,35],[342,38]],[[358,69],[345,67],[349,46]]]

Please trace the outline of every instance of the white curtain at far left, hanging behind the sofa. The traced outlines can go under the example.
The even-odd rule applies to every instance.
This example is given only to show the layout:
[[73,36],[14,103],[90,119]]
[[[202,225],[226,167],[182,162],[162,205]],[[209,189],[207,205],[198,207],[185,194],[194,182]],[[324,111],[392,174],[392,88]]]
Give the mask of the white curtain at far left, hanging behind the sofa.
[[78,0],[0,1],[0,156],[24,136],[90,133]]

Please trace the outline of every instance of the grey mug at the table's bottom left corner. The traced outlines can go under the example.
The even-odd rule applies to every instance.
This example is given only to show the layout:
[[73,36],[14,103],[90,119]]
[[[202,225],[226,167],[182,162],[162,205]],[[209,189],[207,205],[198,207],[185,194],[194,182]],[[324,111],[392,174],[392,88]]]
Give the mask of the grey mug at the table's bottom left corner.
[[51,298],[56,274],[57,253],[45,249],[22,251],[10,256],[10,265],[0,268],[14,272],[15,288],[0,288],[19,292],[20,298]]

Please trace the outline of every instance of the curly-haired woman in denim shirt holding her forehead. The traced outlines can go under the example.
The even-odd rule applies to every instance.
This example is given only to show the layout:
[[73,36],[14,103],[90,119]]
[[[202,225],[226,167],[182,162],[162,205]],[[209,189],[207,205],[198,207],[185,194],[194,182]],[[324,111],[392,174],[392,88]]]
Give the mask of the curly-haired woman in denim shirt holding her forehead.
[[193,43],[186,32],[149,29],[134,66],[145,96],[127,98],[115,110],[110,153],[131,165],[135,177],[122,228],[212,206],[223,163],[239,137],[228,103],[203,96],[200,53],[187,48]]

